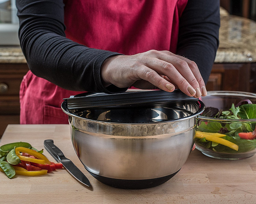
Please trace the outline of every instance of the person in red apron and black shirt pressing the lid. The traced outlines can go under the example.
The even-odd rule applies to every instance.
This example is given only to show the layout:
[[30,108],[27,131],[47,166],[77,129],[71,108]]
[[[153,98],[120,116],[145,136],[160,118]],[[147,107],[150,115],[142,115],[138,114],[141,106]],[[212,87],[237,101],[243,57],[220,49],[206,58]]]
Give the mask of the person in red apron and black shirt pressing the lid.
[[20,123],[68,123],[63,98],[90,91],[207,94],[219,45],[219,1],[16,0],[29,71]]

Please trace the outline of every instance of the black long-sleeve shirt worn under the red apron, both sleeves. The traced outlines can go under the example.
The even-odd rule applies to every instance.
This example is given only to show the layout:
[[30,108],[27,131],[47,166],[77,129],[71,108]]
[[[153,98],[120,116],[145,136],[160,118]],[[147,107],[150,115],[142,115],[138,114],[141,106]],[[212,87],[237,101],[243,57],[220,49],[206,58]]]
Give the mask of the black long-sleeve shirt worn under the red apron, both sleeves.
[[[105,88],[100,79],[101,64],[118,53],[89,48],[65,37],[63,1],[16,0],[16,5],[20,45],[36,76],[74,91],[126,90],[114,85]],[[207,82],[219,44],[219,1],[188,0],[179,27],[176,54],[195,61]]]

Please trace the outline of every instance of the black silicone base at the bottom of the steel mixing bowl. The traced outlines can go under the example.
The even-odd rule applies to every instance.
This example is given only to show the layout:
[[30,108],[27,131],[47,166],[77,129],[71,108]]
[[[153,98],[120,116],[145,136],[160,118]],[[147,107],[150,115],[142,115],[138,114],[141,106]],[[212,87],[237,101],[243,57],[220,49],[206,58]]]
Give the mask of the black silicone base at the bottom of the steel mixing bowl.
[[96,175],[90,171],[88,171],[88,172],[95,179],[97,179],[101,183],[106,184],[108,186],[112,186],[115,188],[124,188],[124,189],[143,189],[143,188],[151,188],[154,186],[161,185],[161,184],[165,183],[166,181],[168,181],[169,179],[171,179],[179,171],[177,171],[171,175],[161,177],[161,178],[143,179],[143,180],[112,179],[112,178]]

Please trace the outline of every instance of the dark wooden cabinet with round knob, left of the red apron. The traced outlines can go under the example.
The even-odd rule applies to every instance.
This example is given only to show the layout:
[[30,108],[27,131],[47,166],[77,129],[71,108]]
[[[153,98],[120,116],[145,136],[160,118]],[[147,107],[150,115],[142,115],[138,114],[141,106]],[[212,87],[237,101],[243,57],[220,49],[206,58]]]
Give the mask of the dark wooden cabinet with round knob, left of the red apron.
[[19,90],[28,65],[0,64],[0,138],[8,124],[20,123]]

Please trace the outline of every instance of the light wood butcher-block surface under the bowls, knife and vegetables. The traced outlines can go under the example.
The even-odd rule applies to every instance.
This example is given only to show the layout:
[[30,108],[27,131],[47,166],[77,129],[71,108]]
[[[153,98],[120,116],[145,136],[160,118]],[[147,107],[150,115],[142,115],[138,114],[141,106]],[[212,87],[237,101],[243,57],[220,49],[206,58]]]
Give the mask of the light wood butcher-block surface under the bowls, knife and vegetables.
[[[8,179],[0,172],[0,203],[184,203],[184,204],[255,204],[256,156],[226,161],[191,152],[181,170],[166,183],[148,189],[113,188],[94,179],[83,167],[73,149],[68,125],[9,125],[0,146],[11,142],[29,142],[44,148],[44,140],[54,143],[84,172],[91,182],[87,187],[60,169],[43,176]],[[55,161],[47,151],[45,156]]]

